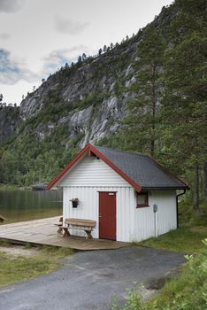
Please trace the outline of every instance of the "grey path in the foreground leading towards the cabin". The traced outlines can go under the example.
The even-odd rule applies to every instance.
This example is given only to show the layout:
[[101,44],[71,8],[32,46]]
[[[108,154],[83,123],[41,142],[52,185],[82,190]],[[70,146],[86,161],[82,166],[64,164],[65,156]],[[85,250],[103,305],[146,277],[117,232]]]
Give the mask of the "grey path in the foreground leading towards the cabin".
[[185,261],[180,253],[142,247],[79,252],[58,271],[0,290],[0,310],[105,310],[126,288],[163,278]]

